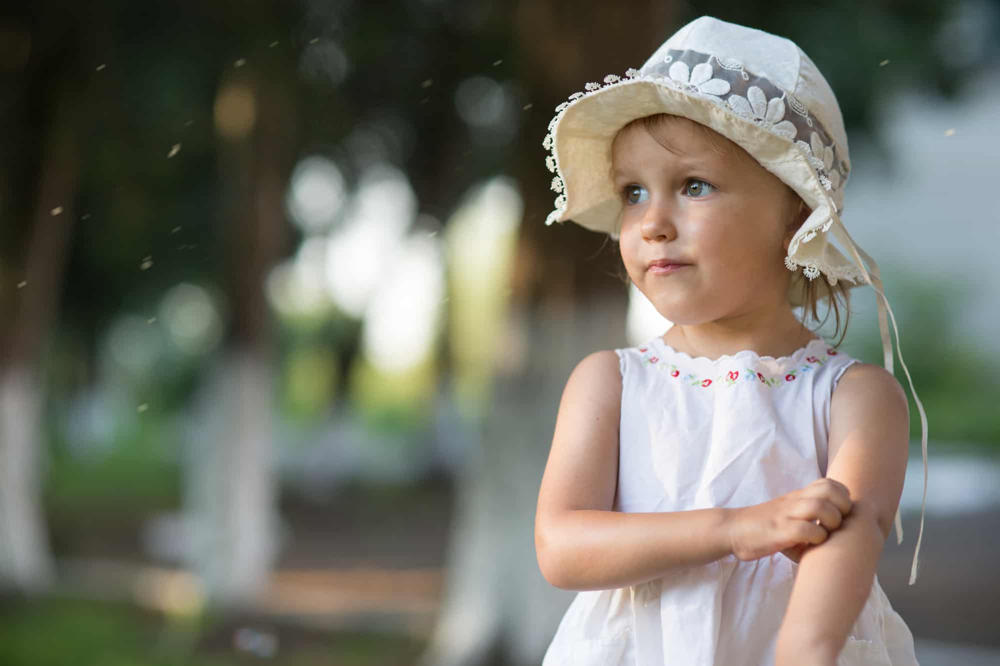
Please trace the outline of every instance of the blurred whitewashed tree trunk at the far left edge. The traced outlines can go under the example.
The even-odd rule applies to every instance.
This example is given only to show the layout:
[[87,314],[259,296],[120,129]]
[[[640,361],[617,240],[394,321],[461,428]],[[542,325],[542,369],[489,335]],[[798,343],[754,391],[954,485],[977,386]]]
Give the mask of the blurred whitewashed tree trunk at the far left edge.
[[[0,332],[0,587],[34,592],[52,583],[53,563],[41,506],[44,386],[37,365],[59,309],[75,221],[79,175],[75,91],[63,86],[46,137],[23,281]],[[15,271],[5,273],[11,277]],[[5,295],[7,296],[7,295]]]

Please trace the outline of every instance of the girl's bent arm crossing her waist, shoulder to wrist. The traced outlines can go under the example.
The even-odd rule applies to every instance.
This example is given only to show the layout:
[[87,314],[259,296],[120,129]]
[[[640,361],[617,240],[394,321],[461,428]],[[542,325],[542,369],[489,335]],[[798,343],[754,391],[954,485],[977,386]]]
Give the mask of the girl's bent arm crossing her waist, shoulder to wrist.
[[612,511],[618,482],[622,378],[596,351],[566,382],[535,516],[542,575],[570,590],[637,585],[732,552],[729,509]]

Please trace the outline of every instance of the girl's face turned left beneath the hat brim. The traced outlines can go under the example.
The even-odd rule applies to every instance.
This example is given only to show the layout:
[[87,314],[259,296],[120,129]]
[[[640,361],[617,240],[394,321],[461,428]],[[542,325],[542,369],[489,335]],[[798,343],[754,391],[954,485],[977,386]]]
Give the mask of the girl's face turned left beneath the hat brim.
[[[784,257],[809,209],[797,215],[801,200],[722,135],[705,128],[729,147],[720,155],[695,122],[667,120],[658,136],[676,153],[638,124],[612,146],[619,247],[632,282],[685,326],[788,308]],[[688,266],[650,271],[661,259]]]

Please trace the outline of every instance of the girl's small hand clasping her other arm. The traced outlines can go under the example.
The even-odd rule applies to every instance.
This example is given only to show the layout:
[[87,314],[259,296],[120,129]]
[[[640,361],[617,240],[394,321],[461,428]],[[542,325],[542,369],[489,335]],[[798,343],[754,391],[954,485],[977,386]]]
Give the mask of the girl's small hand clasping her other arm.
[[781,551],[794,561],[826,540],[851,512],[847,486],[819,478],[774,499],[732,509],[727,525],[730,550],[743,561]]

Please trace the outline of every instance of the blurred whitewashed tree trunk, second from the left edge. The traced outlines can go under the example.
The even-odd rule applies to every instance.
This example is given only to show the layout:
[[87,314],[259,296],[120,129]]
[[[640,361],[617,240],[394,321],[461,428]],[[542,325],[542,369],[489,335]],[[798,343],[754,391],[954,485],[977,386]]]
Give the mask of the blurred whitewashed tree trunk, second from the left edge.
[[284,250],[294,117],[274,73],[246,76],[229,84],[249,93],[256,124],[245,135],[227,137],[220,149],[230,230],[229,331],[202,393],[205,427],[190,442],[185,492],[193,527],[191,566],[208,602],[226,607],[246,605],[264,589],[279,552],[264,280]]

